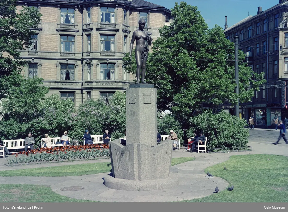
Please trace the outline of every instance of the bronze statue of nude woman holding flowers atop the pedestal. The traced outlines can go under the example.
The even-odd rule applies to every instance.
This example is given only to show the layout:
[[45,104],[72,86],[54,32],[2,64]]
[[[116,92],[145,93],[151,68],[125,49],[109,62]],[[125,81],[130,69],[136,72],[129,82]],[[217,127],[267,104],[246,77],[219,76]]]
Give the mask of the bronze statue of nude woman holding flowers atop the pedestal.
[[[140,70],[141,72],[141,82],[146,83],[145,79],[145,72],[146,72],[146,64],[147,64],[147,57],[148,57],[148,45],[151,46],[152,38],[147,34],[147,32],[143,31],[145,27],[146,21],[143,19],[139,20],[139,29],[135,30],[132,35],[131,43],[130,43],[130,54],[129,57],[131,58],[131,53],[134,45],[134,41],[136,40],[136,48],[135,48],[135,57],[136,57],[136,83],[140,83]],[[147,40],[147,43],[145,44]]]

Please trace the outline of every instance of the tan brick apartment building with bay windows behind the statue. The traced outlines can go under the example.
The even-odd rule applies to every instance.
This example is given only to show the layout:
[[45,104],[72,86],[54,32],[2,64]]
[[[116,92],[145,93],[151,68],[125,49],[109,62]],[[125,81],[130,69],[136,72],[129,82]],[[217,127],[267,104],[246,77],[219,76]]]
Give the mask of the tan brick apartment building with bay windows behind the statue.
[[31,61],[24,74],[42,77],[50,86],[47,95],[71,99],[75,107],[88,98],[107,101],[115,91],[124,92],[135,77],[125,72],[122,58],[139,19],[147,21],[144,30],[155,41],[171,14],[143,0],[19,0],[17,10],[22,5],[43,14],[39,27],[31,29],[33,45],[21,52]]

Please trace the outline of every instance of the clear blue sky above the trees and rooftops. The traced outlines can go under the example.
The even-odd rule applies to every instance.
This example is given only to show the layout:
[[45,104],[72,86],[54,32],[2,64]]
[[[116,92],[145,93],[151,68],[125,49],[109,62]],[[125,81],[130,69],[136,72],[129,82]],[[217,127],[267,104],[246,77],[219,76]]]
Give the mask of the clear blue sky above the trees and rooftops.
[[[175,0],[146,1],[168,9],[174,8],[175,5]],[[185,2],[198,7],[209,28],[214,27],[215,24],[224,28],[225,16],[227,16],[227,25],[230,27],[248,17],[248,12],[249,15],[256,15],[258,7],[262,7],[264,11],[278,4],[279,0],[187,0]]]

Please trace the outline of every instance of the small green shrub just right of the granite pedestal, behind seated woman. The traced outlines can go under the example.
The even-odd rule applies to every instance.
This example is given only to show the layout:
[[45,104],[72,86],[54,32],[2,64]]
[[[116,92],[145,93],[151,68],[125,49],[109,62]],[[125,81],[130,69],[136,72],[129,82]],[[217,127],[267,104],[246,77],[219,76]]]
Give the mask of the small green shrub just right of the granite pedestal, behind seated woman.
[[172,129],[177,134],[177,138],[180,138],[180,144],[183,144],[184,133],[181,129],[181,124],[175,120],[173,115],[166,114],[165,116],[160,117],[160,113],[158,112],[158,132],[161,135],[169,135],[170,130]]

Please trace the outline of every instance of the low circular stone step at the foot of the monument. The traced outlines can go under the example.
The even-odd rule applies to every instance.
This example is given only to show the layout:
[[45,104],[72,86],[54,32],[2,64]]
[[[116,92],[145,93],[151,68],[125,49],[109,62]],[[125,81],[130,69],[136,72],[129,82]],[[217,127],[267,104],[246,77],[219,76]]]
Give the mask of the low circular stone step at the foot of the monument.
[[180,184],[179,175],[170,173],[169,177],[160,180],[126,180],[114,178],[110,175],[104,177],[104,185],[111,189],[125,191],[153,191],[172,188]]

